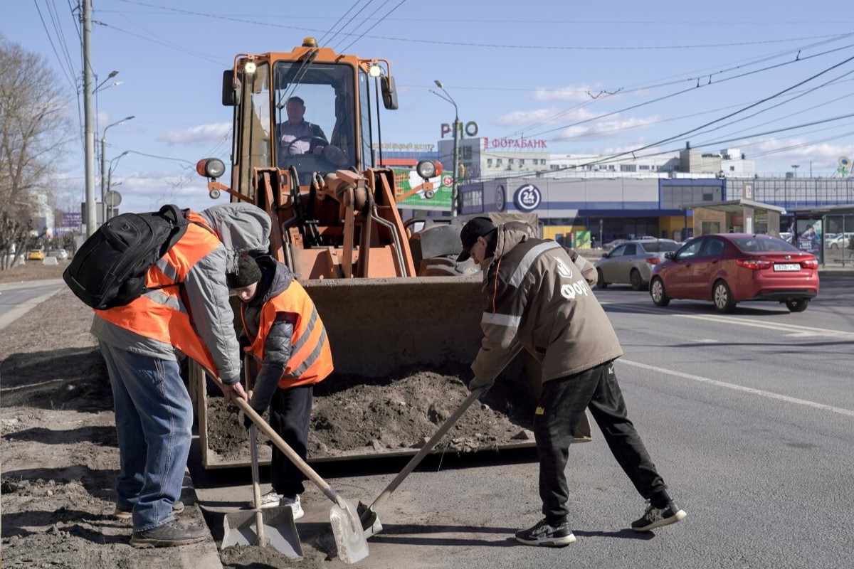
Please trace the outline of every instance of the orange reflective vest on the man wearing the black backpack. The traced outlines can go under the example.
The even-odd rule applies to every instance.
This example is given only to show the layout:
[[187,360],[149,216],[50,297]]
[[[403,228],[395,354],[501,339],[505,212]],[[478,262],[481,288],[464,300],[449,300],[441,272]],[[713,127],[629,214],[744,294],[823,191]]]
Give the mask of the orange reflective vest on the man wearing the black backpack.
[[[146,287],[162,287],[184,282],[190,269],[219,247],[219,237],[196,212],[187,212],[190,223],[184,235],[145,275]],[[201,224],[203,227],[200,227]],[[180,287],[166,286],[144,293],[130,304],[95,311],[104,320],[154,340],[171,344],[196,362],[218,371],[208,347],[193,328]]]

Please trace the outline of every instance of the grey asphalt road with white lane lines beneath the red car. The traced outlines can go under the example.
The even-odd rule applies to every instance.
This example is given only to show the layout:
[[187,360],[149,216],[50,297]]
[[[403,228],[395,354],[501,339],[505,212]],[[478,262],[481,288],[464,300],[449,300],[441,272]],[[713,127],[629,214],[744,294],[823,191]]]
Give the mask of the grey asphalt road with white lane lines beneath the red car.
[[[358,566],[850,566],[851,277],[822,276],[819,298],[799,314],[770,303],[743,303],[730,315],[684,300],[659,308],[629,287],[596,295],[623,343],[617,377],[629,416],[687,520],[654,533],[627,530],[643,502],[594,428],[592,442],[570,450],[567,467],[576,543],[538,549],[512,541],[514,531],[541,519],[530,452],[477,461],[431,456],[378,509],[385,529]],[[403,463],[319,471],[352,502],[371,502]],[[251,497],[249,473],[196,468],[194,480],[219,539],[217,515]],[[296,526],[313,539],[329,525],[330,502],[311,488],[303,506]]]

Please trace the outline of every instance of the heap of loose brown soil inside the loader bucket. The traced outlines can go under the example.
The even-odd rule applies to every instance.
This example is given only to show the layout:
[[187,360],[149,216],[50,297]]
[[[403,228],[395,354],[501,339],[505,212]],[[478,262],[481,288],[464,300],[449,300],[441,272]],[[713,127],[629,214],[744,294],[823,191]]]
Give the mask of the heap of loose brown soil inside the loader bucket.
[[[459,371],[412,369],[387,378],[333,374],[314,388],[308,456],[414,454],[468,397]],[[208,449],[219,460],[249,462],[249,438],[236,407],[208,386]],[[436,450],[471,452],[533,443],[533,402],[500,381],[454,424]],[[265,415],[266,418],[266,415]],[[262,440],[262,438],[259,438]],[[259,450],[268,460],[270,450]]]

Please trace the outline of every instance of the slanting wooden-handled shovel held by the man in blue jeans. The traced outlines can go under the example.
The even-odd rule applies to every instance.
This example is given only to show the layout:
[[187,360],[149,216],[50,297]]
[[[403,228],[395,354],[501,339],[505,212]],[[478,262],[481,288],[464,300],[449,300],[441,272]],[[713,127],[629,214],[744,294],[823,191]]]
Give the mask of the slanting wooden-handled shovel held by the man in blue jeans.
[[[223,386],[222,380],[216,374],[212,374],[208,370],[208,375],[211,376],[220,388]],[[320,478],[320,475],[314,472],[314,469],[308,466],[307,462],[303,461],[296,454],[296,451],[291,449],[290,445],[278,436],[278,433],[264,421],[264,418],[249,406],[248,402],[237,397],[232,398],[232,401],[237,404],[237,407],[246,416],[252,419],[254,424],[260,428],[261,433],[264,433],[273,444],[278,446],[278,449],[290,459],[290,462],[293,462],[333,502],[329,513],[329,520],[332,525],[332,533],[335,536],[338,558],[348,565],[365,559],[368,556],[368,543],[365,538],[365,531],[362,530],[359,514],[356,514],[356,508],[339,496],[336,491],[332,490],[330,485],[324,479]]]

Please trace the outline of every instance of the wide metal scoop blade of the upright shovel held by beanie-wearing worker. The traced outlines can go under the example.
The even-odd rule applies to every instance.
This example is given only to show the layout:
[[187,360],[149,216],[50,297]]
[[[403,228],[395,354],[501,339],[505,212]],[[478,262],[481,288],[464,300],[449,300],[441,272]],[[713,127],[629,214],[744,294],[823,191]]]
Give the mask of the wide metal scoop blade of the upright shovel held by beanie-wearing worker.
[[232,545],[270,545],[289,559],[302,558],[300,536],[294,524],[294,513],[290,508],[263,508],[260,510],[264,525],[264,541],[259,543],[255,513],[258,510],[237,510],[225,514],[220,549]]

